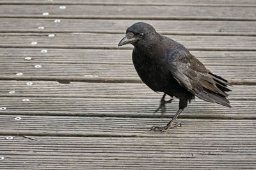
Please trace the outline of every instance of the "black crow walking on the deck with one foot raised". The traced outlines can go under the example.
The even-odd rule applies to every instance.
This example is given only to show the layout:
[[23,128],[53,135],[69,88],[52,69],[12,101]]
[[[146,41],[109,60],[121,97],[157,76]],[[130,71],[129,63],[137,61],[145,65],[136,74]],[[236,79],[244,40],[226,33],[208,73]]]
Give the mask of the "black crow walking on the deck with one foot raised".
[[230,107],[224,78],[212,74],[198,59],[177,41],[156,32],[147,23],[138,22],[131,25],[118,46],[134,45],[132,61],[141,80],[155,92],[164,95],[158,111],[165,111],[166,94],[179,98],[179,111],[164,127],[154,126],[151,131],[168,131],[181,124],[174,124],[175,119],[188,106],[195,96],[211,103]]

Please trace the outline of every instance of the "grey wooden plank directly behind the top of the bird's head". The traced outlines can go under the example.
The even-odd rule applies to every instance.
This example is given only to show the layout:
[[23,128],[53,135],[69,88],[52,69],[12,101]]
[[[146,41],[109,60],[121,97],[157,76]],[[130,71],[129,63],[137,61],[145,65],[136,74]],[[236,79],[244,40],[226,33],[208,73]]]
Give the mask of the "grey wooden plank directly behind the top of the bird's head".
[[[255,36],[256,23],[209,20],[78,20],[46,18],[0,18],[0,32],[101,32],[124,33],[136,22],[147,22],[161,34]],[[100,27],[99,27],[100,25]],[[44,26],[44,29],[38,27]],[[86,27],[86,29],[84,29]]]

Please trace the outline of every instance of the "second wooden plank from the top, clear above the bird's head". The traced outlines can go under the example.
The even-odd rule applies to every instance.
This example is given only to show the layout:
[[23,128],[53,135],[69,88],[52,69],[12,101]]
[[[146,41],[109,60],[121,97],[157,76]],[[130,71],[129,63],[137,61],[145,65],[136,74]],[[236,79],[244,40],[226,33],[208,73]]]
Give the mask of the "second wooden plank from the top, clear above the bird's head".
[[[106,6],[68,5],[1,5],[0,17],[33,18],[122,18],[180,20],[255,20],[254,7],[223,6]],[[143,7],[143,8],[142,8]],[[148,13],[150,11],[150,14]],[[42,15],[48,12],[49,15]]]

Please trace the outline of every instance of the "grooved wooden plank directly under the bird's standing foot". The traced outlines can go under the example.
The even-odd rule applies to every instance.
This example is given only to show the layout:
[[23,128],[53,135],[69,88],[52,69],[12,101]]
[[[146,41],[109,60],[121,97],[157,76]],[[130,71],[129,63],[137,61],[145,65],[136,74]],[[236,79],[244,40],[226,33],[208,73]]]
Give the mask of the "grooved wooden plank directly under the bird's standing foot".
[[[20,117],[20,120],[15,120]],[[14,136],[101,136],[171,138],[254,138],[256,120],[182,119],[182,127],[170,132],[149,131],[166,125],[168,118],[53,117],[1,115],[2,135]],[[227,143],[225,145],[228,146]],[[202,145],[201,145],[202,146]],[[204,145],[203,145],[204,146]],[[1,147],[4,148],[3,145]],[[83,147],[83,146],[82,146]],[[7,148],[6,148],[7,149]],[[256,149],[256,148],[255,148]],[[7,152],[7,151],[6,151]],[[197,151],[199,152],[199,150]],[[255,151],[251,150],[255,154]],[[221,155],[221,154],[220,154]]]

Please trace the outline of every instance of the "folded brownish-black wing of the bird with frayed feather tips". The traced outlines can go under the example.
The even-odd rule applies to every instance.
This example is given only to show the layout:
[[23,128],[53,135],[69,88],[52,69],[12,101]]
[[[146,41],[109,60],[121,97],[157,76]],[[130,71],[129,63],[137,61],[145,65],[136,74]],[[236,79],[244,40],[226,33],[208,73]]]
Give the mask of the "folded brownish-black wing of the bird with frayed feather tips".
[[210,73],[186,48],[173,50],[170,55],[170,71],[182,87],[200,99],[230,107],[225,98],[228,96],[225,91],[230,91],[226,80]]

